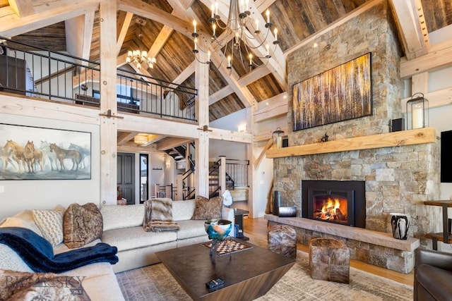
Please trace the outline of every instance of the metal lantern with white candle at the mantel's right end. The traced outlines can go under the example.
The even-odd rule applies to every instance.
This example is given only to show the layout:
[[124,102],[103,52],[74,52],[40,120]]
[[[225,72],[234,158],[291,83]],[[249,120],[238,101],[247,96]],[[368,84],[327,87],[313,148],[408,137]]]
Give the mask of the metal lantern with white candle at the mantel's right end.
[[[415,97],[420,95],[419,97]],[[416,93],[407,102],[407,130],[429,126],[429,100]]]

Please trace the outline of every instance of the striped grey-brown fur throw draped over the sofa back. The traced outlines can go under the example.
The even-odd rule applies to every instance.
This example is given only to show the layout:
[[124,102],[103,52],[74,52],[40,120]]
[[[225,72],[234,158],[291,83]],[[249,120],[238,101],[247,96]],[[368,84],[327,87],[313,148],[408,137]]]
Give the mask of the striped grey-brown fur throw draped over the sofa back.
[[172,220],[172,199],[148,199],[144,203],[143,228],[146,232],[178,231],[179,224]]

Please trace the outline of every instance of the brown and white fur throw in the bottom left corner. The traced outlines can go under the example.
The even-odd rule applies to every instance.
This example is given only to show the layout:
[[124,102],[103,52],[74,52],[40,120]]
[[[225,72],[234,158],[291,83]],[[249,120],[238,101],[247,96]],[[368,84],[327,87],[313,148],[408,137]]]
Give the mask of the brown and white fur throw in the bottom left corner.
[[89,301],[84,276],[0,270],[0,300]]

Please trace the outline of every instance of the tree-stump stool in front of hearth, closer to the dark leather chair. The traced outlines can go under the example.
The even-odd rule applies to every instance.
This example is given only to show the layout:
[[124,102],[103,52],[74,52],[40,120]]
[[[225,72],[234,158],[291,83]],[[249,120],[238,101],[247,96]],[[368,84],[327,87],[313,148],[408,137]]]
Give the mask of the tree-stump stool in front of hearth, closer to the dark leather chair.
[[313,279],[349,283],[350,250],[340,240],[311,238],[309,267]]

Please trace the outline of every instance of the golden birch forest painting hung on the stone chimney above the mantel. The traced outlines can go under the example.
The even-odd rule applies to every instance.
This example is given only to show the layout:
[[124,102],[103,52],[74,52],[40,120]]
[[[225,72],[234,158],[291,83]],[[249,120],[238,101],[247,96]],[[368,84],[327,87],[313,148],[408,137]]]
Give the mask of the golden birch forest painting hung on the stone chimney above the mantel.
[[371,52],[292,87],[293,130],[372,115]]

